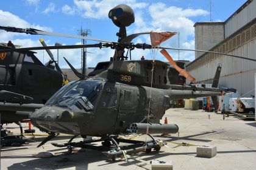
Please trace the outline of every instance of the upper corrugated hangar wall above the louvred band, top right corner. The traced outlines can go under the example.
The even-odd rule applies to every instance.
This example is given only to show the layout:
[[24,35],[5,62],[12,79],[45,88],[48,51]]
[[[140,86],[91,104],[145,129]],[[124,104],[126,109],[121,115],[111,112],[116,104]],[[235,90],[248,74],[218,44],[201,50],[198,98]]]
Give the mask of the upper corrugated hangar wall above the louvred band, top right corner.
[[238,29],[241,29],[248,22],[256,17],[256,1],[252,1],[240,12],[228,19],[225,23],[225,38],[232,35]]

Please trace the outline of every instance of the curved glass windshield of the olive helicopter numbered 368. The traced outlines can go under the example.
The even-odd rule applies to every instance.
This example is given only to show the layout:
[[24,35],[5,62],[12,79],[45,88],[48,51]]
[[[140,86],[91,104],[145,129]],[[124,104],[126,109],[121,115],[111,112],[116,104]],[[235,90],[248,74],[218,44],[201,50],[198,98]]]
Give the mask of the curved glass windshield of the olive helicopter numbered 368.
[[69,86],[52,105],[74,112],[89,112],[93,110],[101,89],[101,81],[77,81]]

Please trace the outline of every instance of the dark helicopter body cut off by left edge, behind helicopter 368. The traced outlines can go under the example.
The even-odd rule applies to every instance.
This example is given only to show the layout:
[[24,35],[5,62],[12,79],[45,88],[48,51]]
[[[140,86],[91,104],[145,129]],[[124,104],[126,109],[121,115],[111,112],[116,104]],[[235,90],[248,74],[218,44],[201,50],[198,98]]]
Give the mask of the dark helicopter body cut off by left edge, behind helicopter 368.
[[[43,39],[40,39],[40,42],[46,46]],[[0,44],[1,50],[13,47]],[[47,52],[51,60],[45,65],[38,60],[35,52],[29,50],[0,53],[1,124],[29,118],[29,114],[43,107],[62,87],[63,79],[67,83],[51,51]],[[55,66],[52,63],[55,63]]]

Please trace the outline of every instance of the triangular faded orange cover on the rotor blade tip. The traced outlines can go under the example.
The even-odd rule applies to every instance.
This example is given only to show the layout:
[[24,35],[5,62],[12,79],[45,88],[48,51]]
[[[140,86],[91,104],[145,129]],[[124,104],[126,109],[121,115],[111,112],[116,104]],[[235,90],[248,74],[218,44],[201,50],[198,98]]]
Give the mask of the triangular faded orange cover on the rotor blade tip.
[[176,35],[176,32],[150,32],[151,45],[153,48],[159,46],[166,39],[171,38],[173,35]]

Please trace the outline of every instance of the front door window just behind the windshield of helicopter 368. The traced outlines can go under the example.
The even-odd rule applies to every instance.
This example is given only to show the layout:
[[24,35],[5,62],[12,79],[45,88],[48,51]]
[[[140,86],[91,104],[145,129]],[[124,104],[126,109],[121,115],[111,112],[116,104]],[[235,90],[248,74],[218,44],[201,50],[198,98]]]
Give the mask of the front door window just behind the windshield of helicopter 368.
[[116,87],[105,87],[103,90],[104,97],[102,98],[101,107],[116,106],[117,89]]

